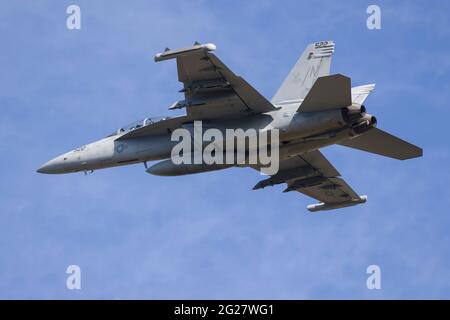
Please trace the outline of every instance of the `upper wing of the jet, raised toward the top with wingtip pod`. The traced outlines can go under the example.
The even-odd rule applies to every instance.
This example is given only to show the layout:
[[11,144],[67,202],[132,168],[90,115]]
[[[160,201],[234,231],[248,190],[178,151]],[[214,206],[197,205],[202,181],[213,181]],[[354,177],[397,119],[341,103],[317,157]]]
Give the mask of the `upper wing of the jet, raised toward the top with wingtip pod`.
[[212,44],[167,50],[155,61],[176,59],[178,80],[183,83],[184,100],[170,109],[185,108],[189,119],[236,118],[277,110],[266,98],[235,75],[211,53]]

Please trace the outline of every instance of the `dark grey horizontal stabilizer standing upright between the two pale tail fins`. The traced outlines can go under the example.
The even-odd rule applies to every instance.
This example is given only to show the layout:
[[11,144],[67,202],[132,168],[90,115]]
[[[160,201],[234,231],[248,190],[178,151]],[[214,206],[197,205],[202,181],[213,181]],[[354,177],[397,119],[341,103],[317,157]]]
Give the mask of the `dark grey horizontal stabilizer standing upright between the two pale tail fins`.
[[350,78],[334,74],[318,78],[297,111],[325,111],[347,107],[351,104]]

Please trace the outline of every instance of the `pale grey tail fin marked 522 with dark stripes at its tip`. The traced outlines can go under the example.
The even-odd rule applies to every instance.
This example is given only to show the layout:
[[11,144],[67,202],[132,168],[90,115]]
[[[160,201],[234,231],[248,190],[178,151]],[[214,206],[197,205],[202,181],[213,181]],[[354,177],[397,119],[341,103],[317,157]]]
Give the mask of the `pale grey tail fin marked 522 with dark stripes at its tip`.
[[333,41],[308,45],[272,98],[272,103],[286,104],[304,99],[317,78],[330,74],[333,52]]

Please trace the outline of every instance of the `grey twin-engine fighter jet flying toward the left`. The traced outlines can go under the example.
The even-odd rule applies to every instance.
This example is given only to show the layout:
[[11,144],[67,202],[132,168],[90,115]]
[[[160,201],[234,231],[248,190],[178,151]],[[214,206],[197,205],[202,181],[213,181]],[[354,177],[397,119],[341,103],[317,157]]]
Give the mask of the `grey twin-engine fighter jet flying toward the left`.
[[[311,212],[354,206],[366,202],[319,151],[338,144],[394,159],[422,156],[422,149],[376,127],[364,102],[374,84],[351,87],[350,78],[330,75],[333,41],[309,44],[269,101],[243,78],[234,74],[213,53],[216,46],[195,43],[155,56],[155,61],[176,59],[184,99],[169,109],[184,109],[177,117],[145,118],[123,126],[107,137],[64,153],[44,165],[39,173],[93,172],[115,166],[144,163],[146,172],[177,176],[220,170],[230,165],[175,164],[171,133],[203,126],[279,130],[279,170],[253,189],[286,183],[320,201]],[[149,161],[159,161],[151,167]],[[242,166],[242,165],[239,165]],[[258,169],[257,165],[247,167]]]

